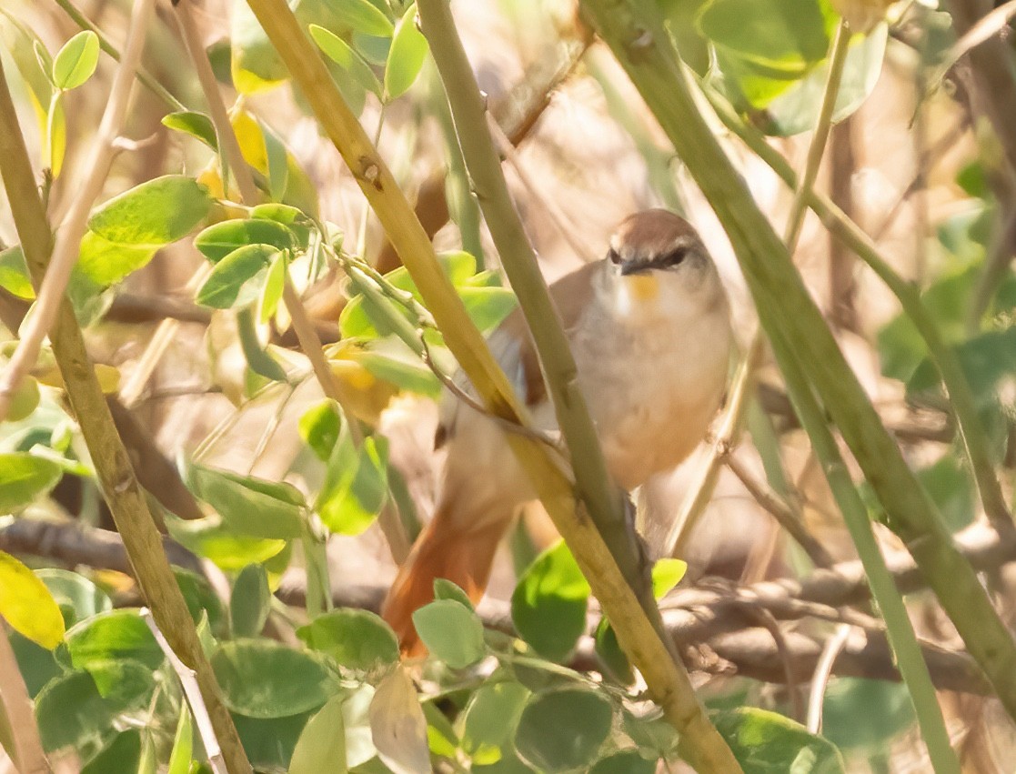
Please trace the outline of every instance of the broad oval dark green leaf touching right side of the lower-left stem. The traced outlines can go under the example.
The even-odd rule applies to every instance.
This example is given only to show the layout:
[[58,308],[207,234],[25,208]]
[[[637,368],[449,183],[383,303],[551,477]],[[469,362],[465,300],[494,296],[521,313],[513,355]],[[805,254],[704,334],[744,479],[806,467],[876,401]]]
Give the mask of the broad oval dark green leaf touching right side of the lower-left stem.
[[340,691],[338,675],[323,659],[271,640],[224,643],[211,666],[226,706],[252,718],[308,712]]

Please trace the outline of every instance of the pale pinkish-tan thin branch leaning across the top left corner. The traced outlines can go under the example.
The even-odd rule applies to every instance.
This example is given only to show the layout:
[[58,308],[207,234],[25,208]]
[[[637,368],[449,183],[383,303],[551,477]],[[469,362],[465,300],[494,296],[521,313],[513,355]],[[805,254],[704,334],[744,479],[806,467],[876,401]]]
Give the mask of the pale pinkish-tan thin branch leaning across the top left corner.
[[81,237],[87,229],[88,213],[91,211],[92,203],[103,191],[103,184],[113,164],[114,142],[123,130],[131,87],[134,85],[134,73],[141,60],[145,34],[154,10],[154,0],[139,0],[131,12],[127,47],[113,77],[109,102],[85,165],[84,180],[71,201],[67,217],[57,232],[53,257],[37,296],[35,309],[22,328],[17,349],[11,356],[3,379],[0,380],[0,422],[7,416],[14,392],[25,374],[36,364],[43,340],[56,320],[57,310],[64,298],[71,271],[77,262]]

